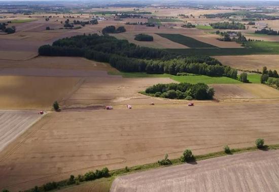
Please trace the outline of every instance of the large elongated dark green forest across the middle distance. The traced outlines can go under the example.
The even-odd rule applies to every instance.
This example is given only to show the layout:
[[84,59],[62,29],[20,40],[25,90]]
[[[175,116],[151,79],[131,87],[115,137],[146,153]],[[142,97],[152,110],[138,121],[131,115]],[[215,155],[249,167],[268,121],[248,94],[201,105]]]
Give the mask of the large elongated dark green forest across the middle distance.
[[162,49],[140,47],[127,40],[108,35],[81,35],[63,38],[39,48],[40,55],[81,56],[100,62],[109,62],[123,72],[150,74],[194,73],[226,76],[236,79],[237,71],[208,56],[182,56]]

